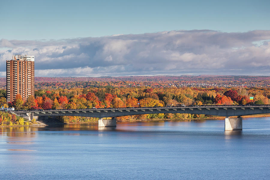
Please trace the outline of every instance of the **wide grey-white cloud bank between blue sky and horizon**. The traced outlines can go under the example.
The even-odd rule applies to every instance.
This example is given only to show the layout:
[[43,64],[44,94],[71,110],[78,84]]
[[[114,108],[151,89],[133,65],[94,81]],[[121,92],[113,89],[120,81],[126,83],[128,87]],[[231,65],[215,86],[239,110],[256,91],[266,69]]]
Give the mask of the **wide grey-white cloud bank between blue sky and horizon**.
[[270,75],[269,39],[270,31],[261,30],[182,30],[50,41],[2,39],[0,76],[5,76],[5,61],[13,54],[35,55],[35,76]]

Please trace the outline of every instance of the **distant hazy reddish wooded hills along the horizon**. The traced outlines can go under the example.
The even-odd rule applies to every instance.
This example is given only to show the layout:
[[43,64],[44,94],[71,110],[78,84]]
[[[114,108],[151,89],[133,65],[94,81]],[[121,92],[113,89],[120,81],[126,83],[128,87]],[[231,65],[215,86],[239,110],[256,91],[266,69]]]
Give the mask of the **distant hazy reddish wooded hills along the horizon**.
[[[154,87],[207,87],[239,86],[267,87],[270,76],[228,76],[228,75],[182,75],[182,76],[102,76],[102,77],[35,77],[36,88],[73,88],[98,86],[154,86]],[[0,88],[5,88],[6,78],[0,77]]]

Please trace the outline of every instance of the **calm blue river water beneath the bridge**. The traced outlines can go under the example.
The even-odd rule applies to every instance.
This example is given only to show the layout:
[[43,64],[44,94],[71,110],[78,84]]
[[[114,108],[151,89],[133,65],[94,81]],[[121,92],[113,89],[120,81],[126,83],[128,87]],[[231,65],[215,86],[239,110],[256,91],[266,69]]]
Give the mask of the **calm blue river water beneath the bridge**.
[[0,179],[269,179],[270,118],[0,128]]

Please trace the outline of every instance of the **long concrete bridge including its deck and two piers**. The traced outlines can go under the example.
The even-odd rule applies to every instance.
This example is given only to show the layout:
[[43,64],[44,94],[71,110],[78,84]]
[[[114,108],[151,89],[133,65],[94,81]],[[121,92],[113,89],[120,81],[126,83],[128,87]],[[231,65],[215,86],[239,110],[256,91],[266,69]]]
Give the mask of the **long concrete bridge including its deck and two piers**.
[[[242,129],[242,117],[244,115],[270,113],[270,105],[211,105],[211,106],[187,106],[187,107],[121,107],[121,108],[92,108],[92,109],[61,109],[61,110],[18,110],[12,111],[18,116],[32,120],[39,120],[48,116],[84,116],[99,118],[98,126],[116,126],[116,117],[155,114],[155,113],[189,113],[225,116],[225,131]],[[230,116],[238,116],[230,118]],[[111,117],[112,119],[103,119]]]

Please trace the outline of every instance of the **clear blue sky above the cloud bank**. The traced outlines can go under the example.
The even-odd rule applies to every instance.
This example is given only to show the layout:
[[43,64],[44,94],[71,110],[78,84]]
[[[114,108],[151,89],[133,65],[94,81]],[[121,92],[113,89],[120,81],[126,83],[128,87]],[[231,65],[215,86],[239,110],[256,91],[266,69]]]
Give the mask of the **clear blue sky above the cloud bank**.
[[0,39],[49,40],[192,29],[269,30],[269,7],[269,0],[1,1]]

